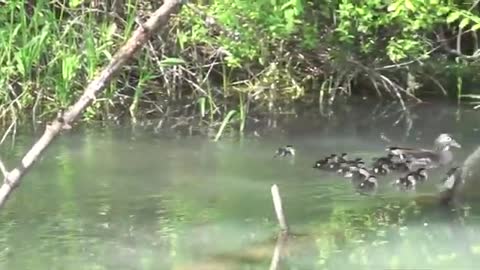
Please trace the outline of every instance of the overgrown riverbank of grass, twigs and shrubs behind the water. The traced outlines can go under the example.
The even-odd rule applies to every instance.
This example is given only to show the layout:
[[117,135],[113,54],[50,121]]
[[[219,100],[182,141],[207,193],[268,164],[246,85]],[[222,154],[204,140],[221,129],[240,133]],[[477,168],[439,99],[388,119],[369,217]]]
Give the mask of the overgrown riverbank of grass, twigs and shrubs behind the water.
[[[4,126],[46,122],[71,105],[157,7],[94,2],[1,4]],[[185,5],[85,111],[83,122],[141,124],[162,117],[177,119],[177,126],[208,126],[215,134],[222,126],[242,133],[261,115],[318,109],[329,118],[334,104],[351,97],[396,101],[404,108],[408,100],[478,100],[478,61],[475,54],[467,57],[478,43],[476,9],[413,3],[418,9],[389,7],[396,10],[391,18],[379,4],[347,1],[307,9],[310,4],[294,2]],[[348,10],[350,17],[344,16]],[[369,16],[383,18],[383,24]],[[401,39],[385,42],[398,36],[394,29],[415,24]],[[458,29],[466,27],[463,35]],[[444,39],[430,37],[440,32]],[[457,36],[465,40],[455,56],[445,42]]]

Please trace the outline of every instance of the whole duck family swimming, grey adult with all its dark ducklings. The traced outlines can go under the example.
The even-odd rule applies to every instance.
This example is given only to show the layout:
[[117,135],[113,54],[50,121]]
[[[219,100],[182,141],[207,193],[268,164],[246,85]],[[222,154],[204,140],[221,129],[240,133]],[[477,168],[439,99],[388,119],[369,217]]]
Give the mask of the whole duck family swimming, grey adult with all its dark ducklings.
[[[387,147],[387,155],[374,158],[370,167],[362,158],[349,159],[347,153],[331,154],[315,162],[313,168],[336,172],[350,178],[354,187],[361,193],[377,190],[380,175],[391,172],[402,173],[391,184],[400,190],[414,190],[418,183],[428,179],[427,169],[449,164],[452,159],[450,147],[460,148],[449,134],[440,134],[434,142],[432,150],[406,147]],[[280,147],[275,153],[278,156],[294,156],[292,145]]]

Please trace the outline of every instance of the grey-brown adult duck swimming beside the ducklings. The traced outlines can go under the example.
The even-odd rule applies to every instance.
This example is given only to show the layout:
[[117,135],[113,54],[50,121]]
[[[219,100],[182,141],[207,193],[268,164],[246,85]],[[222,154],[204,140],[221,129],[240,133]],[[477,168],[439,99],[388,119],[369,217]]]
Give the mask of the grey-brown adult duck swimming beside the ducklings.
[[407,147],[388,147],[389,154],[410,160],[413,167],[436,168],[449,164],[453,160],[451,147],[461,148],[450,134],[440,134],[434,142],[433,149],[415,149]]

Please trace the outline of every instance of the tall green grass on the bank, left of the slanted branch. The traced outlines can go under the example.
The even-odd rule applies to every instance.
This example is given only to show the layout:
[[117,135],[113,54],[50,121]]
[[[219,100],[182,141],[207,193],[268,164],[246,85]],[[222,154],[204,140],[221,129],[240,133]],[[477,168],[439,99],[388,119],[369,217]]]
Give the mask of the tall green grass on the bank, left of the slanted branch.
[[[55,3],[2,4],[0,118],[19,110],[19,119],[25,112],[31,112],[34,119],[42,118],[71,104],[86,81],[110,60],[115,46],[128,38],[138,15],[136,1],[131,0],[126,3],[123,20],[100,12],[103,6],[67,8]],[[111,102],[106,101],[100,100],[106,106],[97,107],[108,109]],[[98,108],[85,116],[99,117]]]

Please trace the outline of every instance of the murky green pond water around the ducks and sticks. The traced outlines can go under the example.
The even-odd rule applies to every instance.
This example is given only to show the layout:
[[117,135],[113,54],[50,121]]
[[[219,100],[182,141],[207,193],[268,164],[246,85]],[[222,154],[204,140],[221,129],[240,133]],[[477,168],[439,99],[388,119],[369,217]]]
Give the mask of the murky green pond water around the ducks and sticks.
[[[389,176],[375,196],[362,196],[312,165],[333,152],[368,159],[394,143],[430,147],[442,132],[462,144],[460,164],[479,144],[480,114],[418,107],[408,128],[395,124],[398,111],[371,109],[358,105],[328,123],[285,119],[284,128],[217,143],[148,128],[77,128],[1,209],[0,268],[272,269],[274,183],[294,233],[278,241],[278,269],[475,268],[480,205],[450,211],[429,200],[448,168],[413,193],[394,191]],[[36,137],[18,134],[2,158],[14,164]],[[285,144],[297,156],[273,159]]]

